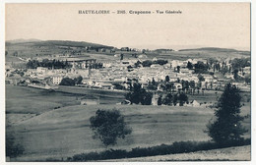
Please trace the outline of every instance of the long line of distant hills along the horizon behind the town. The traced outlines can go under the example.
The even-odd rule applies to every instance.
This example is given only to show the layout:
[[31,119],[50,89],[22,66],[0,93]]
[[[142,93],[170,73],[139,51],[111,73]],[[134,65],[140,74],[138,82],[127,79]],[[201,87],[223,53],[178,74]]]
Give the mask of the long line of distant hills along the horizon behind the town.
[[[6,60],[13,62],[22,58],[49,58],[58,55],[67,56],[90,56],[91,58],[113,59],[114,54],[123,53],[124,58],[133,58],[133,54],[140,54],[141,52],[127,52],[116,51],[111,52],[109,49],[113,46],[102,45],[97,43],[90,43],[85,41],[70,41],[70,40],[36,40],[36,39],[18,39],[13,41],[6,41]],[[108,49],[104,51],[103,49]],[[171,50],[171,49],[160,49]],[[166,60],[187,60],[187,59],[209,59],[209,58],[247,58],[251,55],[250,51],[239,51],[235,49],[217,48],[217,47],[203,47],[196,49],[181,49],[179,51],[150,51],[146,52],[148,58],[154,57]],[[15,58],[12,58],[15,57]]]

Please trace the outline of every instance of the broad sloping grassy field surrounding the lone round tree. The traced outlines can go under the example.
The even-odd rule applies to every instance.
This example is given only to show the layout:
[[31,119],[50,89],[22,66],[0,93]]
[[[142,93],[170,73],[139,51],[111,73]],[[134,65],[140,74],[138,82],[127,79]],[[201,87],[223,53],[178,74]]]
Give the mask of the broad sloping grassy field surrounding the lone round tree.
[[[99,151],[105,147],[90,130],[89,119],[97,109],[117,108],[133,133],[118,140],[113,148],[153,146],[180,140],[208,140],[204,133],[206,124],[214,116],[213,110],[196,107],[154,107],[141,105],[91,105],[68,106],[29,120],[20,122],[9,129],[16,140],[25,147],[18,161],[66,158],[77,153]],[[246,110],[249,113],[249,110]],[[250,123],[244,122],[249,129]],[[250,132],[246,134],[250,137]]]

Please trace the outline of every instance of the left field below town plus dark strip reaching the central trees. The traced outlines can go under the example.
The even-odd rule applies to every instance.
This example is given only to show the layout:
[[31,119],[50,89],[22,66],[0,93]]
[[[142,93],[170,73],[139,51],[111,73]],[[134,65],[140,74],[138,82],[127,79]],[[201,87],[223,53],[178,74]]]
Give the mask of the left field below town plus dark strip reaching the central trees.
[[115,104],[124,98],[124,93],[80,87],[60,86],[58,91],[6,85],[6,113],[41,114],[58,107],[79,105],[84,98],[99,98],[100,104]]

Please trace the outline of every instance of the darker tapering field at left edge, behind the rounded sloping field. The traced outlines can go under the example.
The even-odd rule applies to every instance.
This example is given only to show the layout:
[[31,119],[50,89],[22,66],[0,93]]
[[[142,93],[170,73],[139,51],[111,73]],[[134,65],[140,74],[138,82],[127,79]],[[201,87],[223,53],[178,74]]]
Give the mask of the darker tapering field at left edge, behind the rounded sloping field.
[[56,107],[76,104],[80,104],[80,101],[76,100],[74,94],[6,85],[6,113],[41,114]]

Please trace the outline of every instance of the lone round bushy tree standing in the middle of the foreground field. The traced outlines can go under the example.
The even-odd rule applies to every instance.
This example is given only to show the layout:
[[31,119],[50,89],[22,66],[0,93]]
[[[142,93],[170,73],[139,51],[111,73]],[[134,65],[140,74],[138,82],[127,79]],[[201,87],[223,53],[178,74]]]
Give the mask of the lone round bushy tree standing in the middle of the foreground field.
[[125,138],[132,133],[132,129],[124,122],[124,116],[119,110],[96,111],[96,116],[90,118],[91,126],[95,135],[107,147],[116,144],[117,138]]

